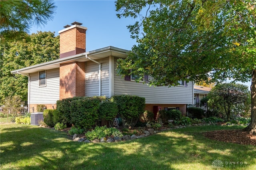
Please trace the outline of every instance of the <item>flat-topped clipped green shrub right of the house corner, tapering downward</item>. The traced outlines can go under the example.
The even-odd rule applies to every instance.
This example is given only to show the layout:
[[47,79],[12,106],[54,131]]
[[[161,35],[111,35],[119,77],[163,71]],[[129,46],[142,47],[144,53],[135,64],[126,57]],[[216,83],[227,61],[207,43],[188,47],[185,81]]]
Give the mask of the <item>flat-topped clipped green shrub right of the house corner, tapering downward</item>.
[[145,98],[134,95],[115,95],[111,99],[117,103],[118,113],[123,119],[123,126],[134,127],[144,112]]

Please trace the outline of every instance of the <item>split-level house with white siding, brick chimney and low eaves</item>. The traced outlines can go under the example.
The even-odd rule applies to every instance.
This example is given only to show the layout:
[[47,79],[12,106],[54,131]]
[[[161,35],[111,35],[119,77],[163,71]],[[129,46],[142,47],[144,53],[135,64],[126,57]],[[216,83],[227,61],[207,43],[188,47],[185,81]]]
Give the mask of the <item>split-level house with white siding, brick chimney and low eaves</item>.
[[104,47],[86,51],[86,30],[81,23],[65,26],[60,34],[60,59],[11,71],[28,76],[28,107],[44,104],[56,108],[56,101],[74,96],[137,95],[145,97],[146,110],[179,109],[193,104],[193,83],[176,87],[150,87],[133,78],[116,74],[116,61],[128,50]]

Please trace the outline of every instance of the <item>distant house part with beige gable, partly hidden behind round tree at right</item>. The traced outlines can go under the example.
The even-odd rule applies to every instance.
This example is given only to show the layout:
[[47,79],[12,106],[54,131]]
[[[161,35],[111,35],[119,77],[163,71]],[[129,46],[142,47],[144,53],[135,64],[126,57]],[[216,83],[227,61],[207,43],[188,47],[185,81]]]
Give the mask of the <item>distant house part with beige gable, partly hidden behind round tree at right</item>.
[[208,95],[212,88],[194,85],[194,106],[206,109],[205,106],[200,106],[201,100]]

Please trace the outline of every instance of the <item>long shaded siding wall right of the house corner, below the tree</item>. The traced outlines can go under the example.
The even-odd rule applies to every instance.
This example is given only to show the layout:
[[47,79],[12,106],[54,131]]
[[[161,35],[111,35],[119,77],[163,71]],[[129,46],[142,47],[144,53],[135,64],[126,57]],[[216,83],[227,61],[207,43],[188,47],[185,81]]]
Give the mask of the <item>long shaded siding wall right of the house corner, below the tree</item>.
[[[116,67],[116,58],[115,65]],[[187,87],[149,87],[146,83],[125,81],[124,78],[114,75],[114,95],[137,95],[145,97],[146,104],[192,104],[193,84]]]

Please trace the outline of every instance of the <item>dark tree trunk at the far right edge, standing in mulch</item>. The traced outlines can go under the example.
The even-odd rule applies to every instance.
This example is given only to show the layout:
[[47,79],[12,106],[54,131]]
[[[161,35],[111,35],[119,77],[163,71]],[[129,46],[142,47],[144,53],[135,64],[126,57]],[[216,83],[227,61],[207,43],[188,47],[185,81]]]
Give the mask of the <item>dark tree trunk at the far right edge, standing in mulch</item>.
[[244,128],[244,130],[252,131],[253,134],[256,134],[256,69],[252,71],[251,99],[251,123],[248,125],[248,127]]

